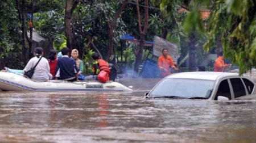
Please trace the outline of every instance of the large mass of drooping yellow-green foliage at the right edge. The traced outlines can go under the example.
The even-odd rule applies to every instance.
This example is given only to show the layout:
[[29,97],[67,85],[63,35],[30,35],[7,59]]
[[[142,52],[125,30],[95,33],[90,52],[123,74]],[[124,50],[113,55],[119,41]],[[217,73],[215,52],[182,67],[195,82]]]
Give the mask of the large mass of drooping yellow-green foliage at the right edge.
[[255,5],[255,1],[216,1],[210,15],[209,40],[204,45],[205,50],[209,50],[219,36],[224,56],[238,65],[240,74],[256,65]]

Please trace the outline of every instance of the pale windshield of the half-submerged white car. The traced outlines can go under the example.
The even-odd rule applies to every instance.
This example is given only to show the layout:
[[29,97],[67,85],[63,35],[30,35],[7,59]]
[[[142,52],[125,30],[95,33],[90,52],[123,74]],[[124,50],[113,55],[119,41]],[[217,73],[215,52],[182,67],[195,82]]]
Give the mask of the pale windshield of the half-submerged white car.
[[213,86],[214,81],[210,80],[166,78],[153,89],[148,97],[208,99],[212,94]]

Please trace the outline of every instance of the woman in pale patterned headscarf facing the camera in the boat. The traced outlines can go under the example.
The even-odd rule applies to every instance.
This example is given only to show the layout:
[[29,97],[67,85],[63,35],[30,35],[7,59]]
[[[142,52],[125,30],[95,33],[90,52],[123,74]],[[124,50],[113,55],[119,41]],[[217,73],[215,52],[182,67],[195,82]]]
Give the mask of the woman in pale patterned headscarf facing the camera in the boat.
[[79,52],[77,49],[72,49],[71,51],[71,58],[73,58],[76,61],[76,66],[79,69],[78,74],[78,79],[80,81],[84,81],[84,75],[82,75],[82,71],[84,70],[84,62],[78,58]]

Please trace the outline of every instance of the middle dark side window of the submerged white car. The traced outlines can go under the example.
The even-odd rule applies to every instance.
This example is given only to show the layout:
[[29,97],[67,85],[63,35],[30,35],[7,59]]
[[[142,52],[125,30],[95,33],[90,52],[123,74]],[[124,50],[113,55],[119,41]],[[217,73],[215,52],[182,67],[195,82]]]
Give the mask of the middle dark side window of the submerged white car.
[[243,86],[241,78],[230,78],[230,82],[231,82],[232,87],[233,87],[235,98],[246,95],[245,86]]

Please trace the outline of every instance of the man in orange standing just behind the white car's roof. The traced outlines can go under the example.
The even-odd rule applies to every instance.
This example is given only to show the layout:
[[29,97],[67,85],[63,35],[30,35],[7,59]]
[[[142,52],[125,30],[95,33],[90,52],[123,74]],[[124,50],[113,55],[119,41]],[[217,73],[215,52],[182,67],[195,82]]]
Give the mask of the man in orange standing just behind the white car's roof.
[[168,55],[168,49],[162,49],[162,53],[163,55],[158,58],[158,68],[160,69],[160,76],[164,78],[171,74],[170,67],[174,70],[177,70],[177,68],[174,65],[172,57]]

